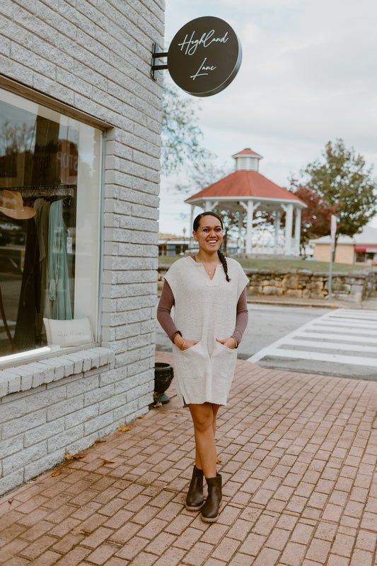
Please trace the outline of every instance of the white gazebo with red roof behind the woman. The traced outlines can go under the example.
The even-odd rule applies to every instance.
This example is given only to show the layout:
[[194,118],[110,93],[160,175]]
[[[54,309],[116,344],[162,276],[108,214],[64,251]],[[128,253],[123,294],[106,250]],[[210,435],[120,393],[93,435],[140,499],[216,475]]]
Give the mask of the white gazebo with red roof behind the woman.
[[[283,254],[298,256],[300,253],[301,210],[306,204],[293,193],[279,187],[258,172],[262,155],[250,148],[232,155],[236,160],[236,170],[209,185],[199,193],[185,200],[191,206],[191,225],[195,206],[211,211],[222,208],[228,211],[239,211],[239,237],[243,219],[246,216],[245,253],[253,254],[253,218],[257,209],[268,211],[274,215],[274,246],[269,253],[278,254],[279,230],[282,213],[286,213]],[[295,212],[295,215],[294,215]],[[295,222],[294,222],[295,216]],[[293,226],[294,223],[294,226]],[[293,232],[294,228],[294,233]]]

